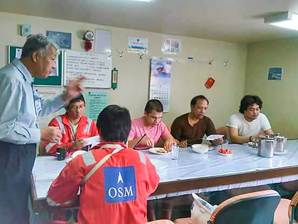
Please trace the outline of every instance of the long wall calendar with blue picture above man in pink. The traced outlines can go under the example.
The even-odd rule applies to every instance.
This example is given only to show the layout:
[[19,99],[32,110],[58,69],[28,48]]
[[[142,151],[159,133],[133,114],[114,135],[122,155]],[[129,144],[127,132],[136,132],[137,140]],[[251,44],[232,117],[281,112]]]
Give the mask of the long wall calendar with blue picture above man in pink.
[[170,110],[172,61],[151,60],[149,99],[157,99],[162,103],[163,112]]

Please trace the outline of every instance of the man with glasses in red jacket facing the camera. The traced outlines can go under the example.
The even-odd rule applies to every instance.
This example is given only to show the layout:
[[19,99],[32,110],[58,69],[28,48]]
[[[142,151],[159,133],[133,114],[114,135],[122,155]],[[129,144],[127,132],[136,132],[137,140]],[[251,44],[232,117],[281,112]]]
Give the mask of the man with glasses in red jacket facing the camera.
[[68,156],[87,145],[83,138],[98,135],[96,123],[84,116],[85,100],[82,94],[70,101],[65,110],[65,114],[54,117],[49,123],[49,126],[59,127],[62,132],[60,142],[44,143],[45,150],[50,155],[56,155],[57,147],[66,147]]

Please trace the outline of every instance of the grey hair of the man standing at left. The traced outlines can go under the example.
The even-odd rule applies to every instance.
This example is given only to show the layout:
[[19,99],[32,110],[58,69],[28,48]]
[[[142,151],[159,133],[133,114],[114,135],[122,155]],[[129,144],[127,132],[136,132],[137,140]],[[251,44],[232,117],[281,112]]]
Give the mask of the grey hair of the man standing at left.
[[57,55],[60,53],[59,45],[51,38],[42,34],[29,35],[27,37],[26,43],[23,46],[21,58],[29,57],[33,52],[36,51],[42,55],[42,53],[49,47],[53,47]]

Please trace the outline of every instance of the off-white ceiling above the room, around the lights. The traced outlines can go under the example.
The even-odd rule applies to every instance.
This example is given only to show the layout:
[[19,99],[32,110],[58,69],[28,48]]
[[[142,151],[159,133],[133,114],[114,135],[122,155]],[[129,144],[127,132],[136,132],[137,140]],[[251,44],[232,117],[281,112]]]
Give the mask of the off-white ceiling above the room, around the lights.
[[230,42],[295,37],[264,23],[298,0],[0,0],[0,11]]

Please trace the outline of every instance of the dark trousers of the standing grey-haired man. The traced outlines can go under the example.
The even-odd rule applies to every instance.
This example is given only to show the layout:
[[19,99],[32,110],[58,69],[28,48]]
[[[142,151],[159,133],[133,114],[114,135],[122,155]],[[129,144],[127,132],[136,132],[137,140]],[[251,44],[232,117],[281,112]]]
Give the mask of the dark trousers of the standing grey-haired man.
[[0,224],[29,224],[28,195],[36,144],[0,141]]

